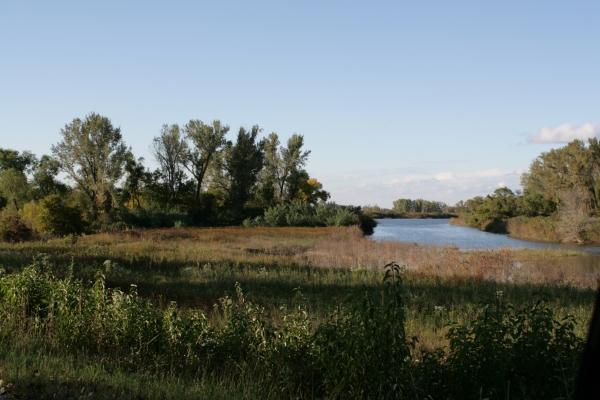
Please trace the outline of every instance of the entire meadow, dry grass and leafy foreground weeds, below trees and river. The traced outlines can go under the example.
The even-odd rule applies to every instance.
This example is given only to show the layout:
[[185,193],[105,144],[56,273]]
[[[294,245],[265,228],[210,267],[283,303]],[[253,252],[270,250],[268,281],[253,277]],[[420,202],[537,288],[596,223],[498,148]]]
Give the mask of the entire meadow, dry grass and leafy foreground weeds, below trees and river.
[[[36,399],[568,398],[594,299],[594,277],[568,268],[577,254],[352,229],[170,228],[0,250],[0,378]],[[390,258],[401,266],[379,264]]]

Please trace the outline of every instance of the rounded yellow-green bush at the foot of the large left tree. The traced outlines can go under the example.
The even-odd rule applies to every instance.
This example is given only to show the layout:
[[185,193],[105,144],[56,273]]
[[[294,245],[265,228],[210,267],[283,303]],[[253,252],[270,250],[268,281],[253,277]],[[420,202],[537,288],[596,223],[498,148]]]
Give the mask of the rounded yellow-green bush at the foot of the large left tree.
[[57,194],[51,194],[40,201],[36,225],[40,232],[56,236],[80,235],[84,231],[81,210],[67,204]]

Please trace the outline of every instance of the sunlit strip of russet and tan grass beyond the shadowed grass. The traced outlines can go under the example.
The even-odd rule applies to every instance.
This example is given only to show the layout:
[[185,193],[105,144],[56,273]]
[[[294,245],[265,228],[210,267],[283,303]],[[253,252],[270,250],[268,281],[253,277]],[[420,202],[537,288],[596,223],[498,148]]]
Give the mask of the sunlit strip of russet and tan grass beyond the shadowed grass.
[[[556,250],[462,252],[453,247],[376,242],[358,228],[179,228],[103,233],[76,244],[54,240],[0,244],[26,263],[39,253],[177,267],[242,262],[380,270],[391,261],[409,272],[461,281],[476,280],[596,288],[598,257]],[[1,257],[0,257],[1,258]],[[1,261],[1,260],[0,260]]]

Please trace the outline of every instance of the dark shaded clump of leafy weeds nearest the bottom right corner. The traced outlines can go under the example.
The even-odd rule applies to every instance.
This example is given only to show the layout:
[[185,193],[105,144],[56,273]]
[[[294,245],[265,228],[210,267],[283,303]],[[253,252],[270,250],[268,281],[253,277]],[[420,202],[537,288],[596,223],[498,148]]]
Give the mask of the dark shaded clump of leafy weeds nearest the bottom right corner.
[[574,326],[569,315],[558,321],[543,298],[516,310],[498,293],[471,326],[448,332],[448,397],[570,398],[584,345]]

